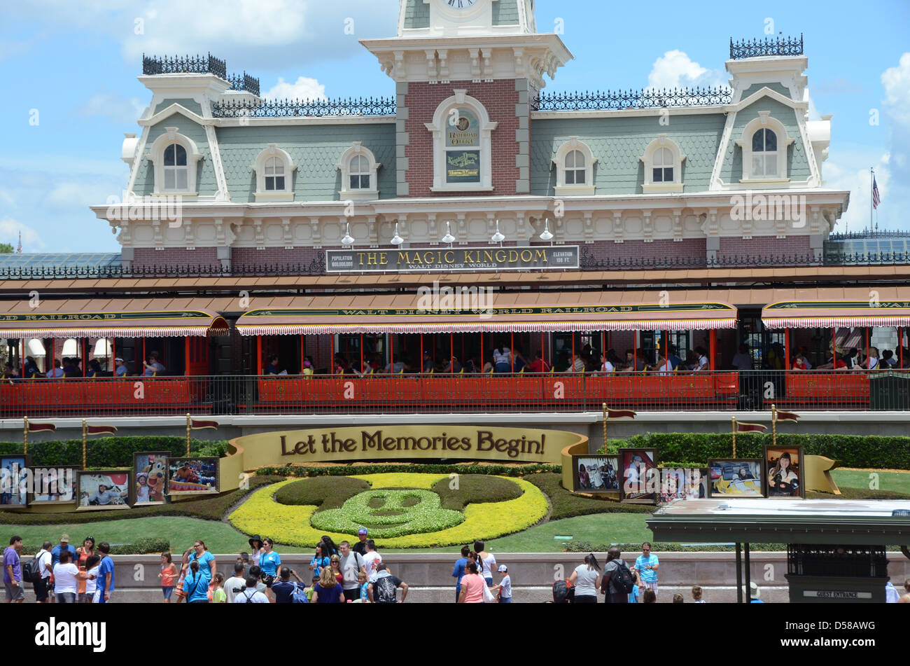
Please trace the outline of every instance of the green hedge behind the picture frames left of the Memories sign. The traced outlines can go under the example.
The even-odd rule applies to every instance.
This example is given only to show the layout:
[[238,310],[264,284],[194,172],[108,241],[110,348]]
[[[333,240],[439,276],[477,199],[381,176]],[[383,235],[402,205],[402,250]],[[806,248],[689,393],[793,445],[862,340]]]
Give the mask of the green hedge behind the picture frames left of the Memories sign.
[[[190,439],[189,449],[194,456],[222,457],[227,453],[227,439],[216,441]],[[110,469],[132,467],[133,454],[143,451],[170,451],[175,457],[187,452],[187,438],[150,435],[146,437],[93,437],[86,442],[86,467]],[[0,442],[0,454],[21,454],[22,442]],[[39,467],[52,465],[81,465],[82,439],[29,442],[28,453],[32,464]]]

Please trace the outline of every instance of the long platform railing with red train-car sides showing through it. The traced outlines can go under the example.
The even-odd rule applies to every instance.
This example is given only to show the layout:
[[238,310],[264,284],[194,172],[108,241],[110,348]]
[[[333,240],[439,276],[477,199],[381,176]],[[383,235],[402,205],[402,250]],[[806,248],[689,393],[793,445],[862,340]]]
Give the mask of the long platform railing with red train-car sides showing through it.
[[34,379],[0,382],[0,418],[145,414],[347,414],[910,409],[910,372],[754,371]]

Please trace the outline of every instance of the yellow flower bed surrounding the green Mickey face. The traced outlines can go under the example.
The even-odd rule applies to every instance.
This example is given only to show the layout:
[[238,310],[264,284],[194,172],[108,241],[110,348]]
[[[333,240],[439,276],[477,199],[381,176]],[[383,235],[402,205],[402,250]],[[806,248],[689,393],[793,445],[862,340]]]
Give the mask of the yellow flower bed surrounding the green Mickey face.
[[[381,479],[375,479],[381,477]],[[445,474],[367,474],[358,477],[373,483],[373,488],[429,489]],[[410,534],[392,539],[377,539],[380,548],[434,548],[469,543],[475,539],[490,540],[506,534],[526,530],[547,515],[546,496],[534,484],[524,479],[510,479],[524,491],[520,498],[501,502],[469,504],[465,507],[464,522],[448,530]],[[229,517],[230,523],[247,534],[262,534],[278,543],[292,546],[315,546],[323,534],[336,543],[351,540],[354,535],[315,530],[309,518],[315,506],[289,506],[275,501],[275,491],[299,479],[288,479],[254,492]],[[378,484],[388,485],[378,485]]]

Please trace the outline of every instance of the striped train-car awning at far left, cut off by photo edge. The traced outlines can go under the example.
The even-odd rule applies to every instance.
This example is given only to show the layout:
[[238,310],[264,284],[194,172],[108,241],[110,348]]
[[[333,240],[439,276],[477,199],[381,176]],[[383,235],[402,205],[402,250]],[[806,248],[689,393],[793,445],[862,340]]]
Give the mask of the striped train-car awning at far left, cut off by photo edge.
[[[162,308],[166,299],[24,298],[0,305],[0,338],[184,338],[225,335],[206,308]],[[187,299],[183,299],[187,300]]]

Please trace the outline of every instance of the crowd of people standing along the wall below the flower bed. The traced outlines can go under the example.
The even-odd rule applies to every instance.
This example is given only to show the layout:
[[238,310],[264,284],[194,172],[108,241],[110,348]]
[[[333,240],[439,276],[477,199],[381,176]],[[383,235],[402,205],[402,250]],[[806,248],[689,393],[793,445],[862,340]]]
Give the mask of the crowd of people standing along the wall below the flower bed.
[[[248,540],[249,552],[241,552],[226,578],[217,570],[215,556],[202,540],[196,540],[176,561],[171,552],[161,553],[161,593],[165,603],[402,603],[408,597],[408,583],[401,580],[382,561],[376,543],[366,528],[360,528],[353,546],[338,545],[329,537],[319,540],[308,569],[296,571],[283,564],[275,543],[258,534]],[[115,592],[115,566],[110,544],[97,544],[86,537],[73,547],[67,534],[55,546],[45,541],[35,557],[21,560],[22,538],[14,536],[4,550],[4,587],[6,603],[25,600],[25,584],[31,583],[38,603],[109,603]],[[497,563],[481,540],[461,548],[455,561],[457,603],[511,603],[512,580],[509,568]],[[302,569],[302,568],[301,568]],[[656,603],[660,560],[649,542],[642,543],[642,554],[632,567],[622,559],[617,547],[607,551],[601,566],[593,553],[566,580],[553,585],[553,600],[558,603]],[[302,574],[302,575],[301,575]],[[499,580],[494,581],[494,574]],[[886,600],[910,603],[910,580],[901,595],[889,581]],[[744,598],[763,603],[761,590],[752,582],[743,589]],[[116,597],[114,597],[116,600]],[[704,603],[703,589],[692,588],[695,603]],[[682,603],[682,594],[673,595]]]

